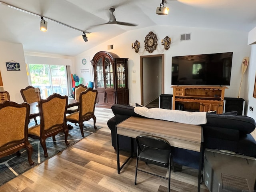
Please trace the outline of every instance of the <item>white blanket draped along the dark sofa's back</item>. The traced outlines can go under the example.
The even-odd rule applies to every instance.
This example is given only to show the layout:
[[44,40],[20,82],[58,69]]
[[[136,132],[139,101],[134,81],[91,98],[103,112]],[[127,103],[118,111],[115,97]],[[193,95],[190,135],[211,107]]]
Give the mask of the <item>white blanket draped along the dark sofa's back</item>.
[[206,112],[188,112],[161,108],[135,107],[134,112],[144,117],[186,123],[192,125],[206,124]]

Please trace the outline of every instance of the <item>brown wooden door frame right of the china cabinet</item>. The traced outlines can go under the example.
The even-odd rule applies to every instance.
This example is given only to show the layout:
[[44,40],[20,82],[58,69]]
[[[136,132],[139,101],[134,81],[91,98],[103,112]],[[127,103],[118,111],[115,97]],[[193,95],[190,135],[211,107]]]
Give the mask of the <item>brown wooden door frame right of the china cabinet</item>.
[[143,94],[143,58],[162,57],[162,94],[164,94],[164,54],[140,56],[140,102],[144,104]]

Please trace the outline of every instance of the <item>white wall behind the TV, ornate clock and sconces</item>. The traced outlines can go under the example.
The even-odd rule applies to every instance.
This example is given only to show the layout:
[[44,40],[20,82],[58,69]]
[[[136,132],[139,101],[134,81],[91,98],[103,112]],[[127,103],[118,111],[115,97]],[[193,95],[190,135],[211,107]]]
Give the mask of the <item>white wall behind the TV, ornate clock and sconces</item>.
[[[164,94],[172,94],[171,88],[171,58],[172,56],[208,54],[218,52],[233,52],[231,84],[225,91],[226,97],[237,97],[240,81],[242,77],[241,66],[242,59],[250,56],[251,47],[247,45],[248,33],[230,30],[214,30],[205,28],[189,28],[180,26],[153,26],[138,30],[125,32],[113,39],[103,42],[88,51],[85,51],[76,58],[87,56],[90,60],[99,51],[114,52],[120,57],[129,58],[128,60],[128,81],[129,81],[129,99],[130,104],[140,103],[140,55],[150,55],[144,51],[144,40],[148,32],[153,31],[158,37],[158,46],[153,54],[165,54],[164,56]],[[191,33],[191,40],[180,42],[180,34]],[[160,45],[161,39],[169,36],[172,38],[172,44],[169,50],[163,50]],[[131,48],[131,44],[136,40],[140,42],[140,52],[137,54]],[[107,50],[107,45],[113,44],[113,50]],[[132,73],[135,70],[135,73]],[[240,98],[247,95],[245,90],[247,73],[244,74]],[[136,84],[132,83],[136,80]]]

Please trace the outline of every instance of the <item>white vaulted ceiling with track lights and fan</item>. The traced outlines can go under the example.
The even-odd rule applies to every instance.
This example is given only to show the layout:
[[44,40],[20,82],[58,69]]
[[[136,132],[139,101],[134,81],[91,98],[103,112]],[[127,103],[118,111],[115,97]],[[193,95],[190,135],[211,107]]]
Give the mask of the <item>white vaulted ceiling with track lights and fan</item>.
[[[249,32],[256,27],[256,0],[167,0],[168,15],[157,15],[161,0],[0,0],[6,4],[51,18],[82,32],[48,21],[41,32],[40,18],[0,4],[0,41],[22,43],[26,52],[75,56],[129,30],[154,26],[190,26]],[[138,26],[106,24],[109,8],[117,21]]]

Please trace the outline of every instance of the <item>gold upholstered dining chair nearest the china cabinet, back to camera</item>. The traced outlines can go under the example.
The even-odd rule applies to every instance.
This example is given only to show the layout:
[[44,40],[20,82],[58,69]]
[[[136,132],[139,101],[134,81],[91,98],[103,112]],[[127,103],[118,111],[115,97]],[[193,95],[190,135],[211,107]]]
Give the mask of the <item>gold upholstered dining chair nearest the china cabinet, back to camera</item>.
[[79,124],[82,136],[84,136],[84,121],[93,118],[94,129],[97,129],[96,116],[94,115],[97,95],[97,90],[93,90],[92,88],[88,88],[85,92],[81,92],[79,96],[79,111],[66,116],[66,121]]

